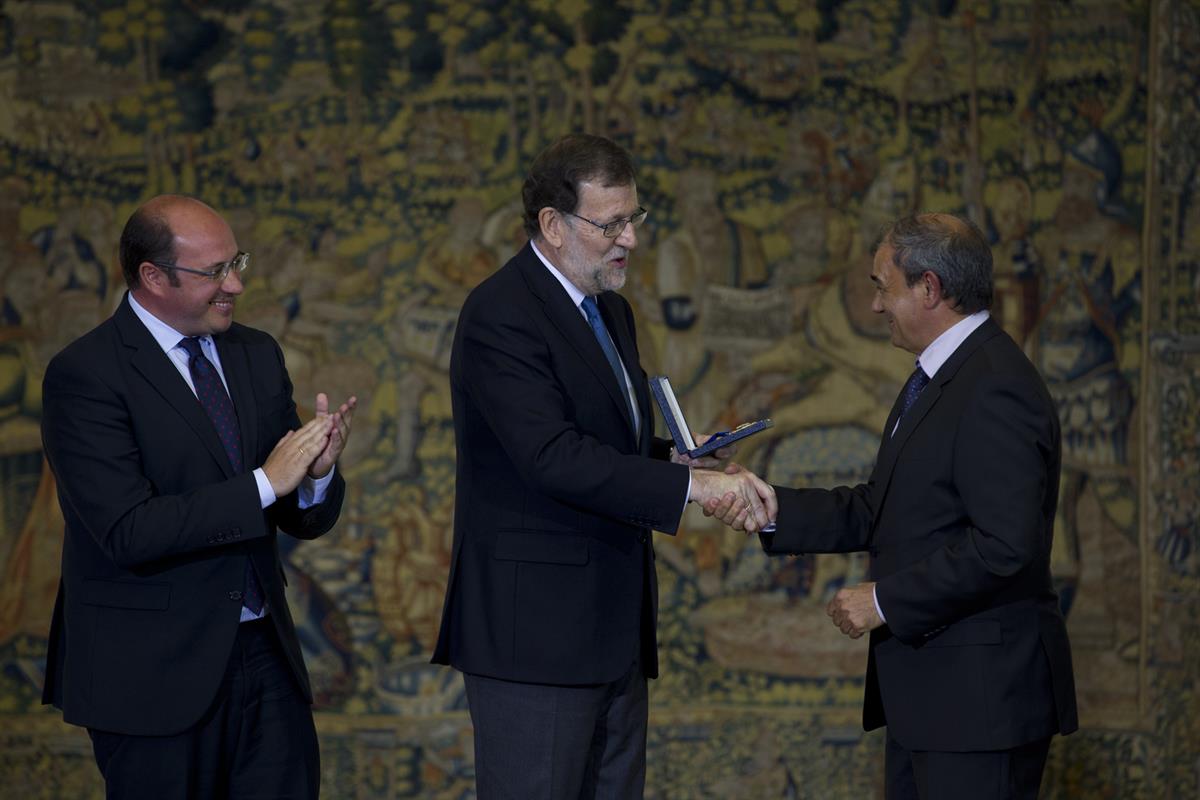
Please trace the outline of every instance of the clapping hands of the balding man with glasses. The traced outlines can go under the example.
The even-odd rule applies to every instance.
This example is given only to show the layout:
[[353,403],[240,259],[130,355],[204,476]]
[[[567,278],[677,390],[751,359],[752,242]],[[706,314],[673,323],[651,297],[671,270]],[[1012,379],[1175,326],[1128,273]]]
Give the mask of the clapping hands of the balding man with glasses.
[[305,475],[312,479],[329,475],[346,450],[358,402],[358,397],[350,396],[336,411],[330,411],[329,397],[318,392],[313,417],[299,429],[284,433],[263,464],[276,497],[290,493]]

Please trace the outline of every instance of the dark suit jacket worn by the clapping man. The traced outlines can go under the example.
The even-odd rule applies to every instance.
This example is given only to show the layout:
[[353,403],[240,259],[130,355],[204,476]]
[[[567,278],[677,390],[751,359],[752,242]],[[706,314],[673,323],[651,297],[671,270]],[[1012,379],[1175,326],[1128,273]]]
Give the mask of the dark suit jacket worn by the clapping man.
[[[216,337],[246,468],[299,427],[275,341],[234,324]],[[50,362],[42,443],[66,519],[43,702],[67,722],[169,735],[212,703],[238,633],[246,559],[310,702],[283,597],[276,529],[313,539],[341,510],[296,494],[262,509],[254,476],[235,475],[216,429],[126,297]]]

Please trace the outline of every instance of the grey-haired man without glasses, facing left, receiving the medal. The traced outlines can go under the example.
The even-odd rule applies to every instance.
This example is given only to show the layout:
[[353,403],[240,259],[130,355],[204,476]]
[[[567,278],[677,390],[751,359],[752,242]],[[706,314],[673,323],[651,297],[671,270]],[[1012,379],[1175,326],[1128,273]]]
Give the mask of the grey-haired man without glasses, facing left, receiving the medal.
[[[776,488],[778,529],[762,543],[871,554],[871,581],[828,612],[847,636],[871,633],[863,724],[887,726],[889,800],[1033,800],[1050,738],[1078,728],[1050,583],[1058,415],[988,314],[991,251],[973,224],[900,219],[871,279],[872,309],[917,371],[869,481]],[[737,503],[706,510],[739,524]]]

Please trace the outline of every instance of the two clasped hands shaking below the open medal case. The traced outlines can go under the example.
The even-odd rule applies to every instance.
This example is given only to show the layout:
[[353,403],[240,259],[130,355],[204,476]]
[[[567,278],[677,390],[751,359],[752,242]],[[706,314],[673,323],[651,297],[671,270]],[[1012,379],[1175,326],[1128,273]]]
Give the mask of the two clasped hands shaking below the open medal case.
[[[703,444],[707,435],[695,437]],[[779,503],[775,489],[740,464],[727,464],[737,445],[721,447],[714,457],[689,458],[671,451],[671,461],[692,468],[691,493],[688,500],[704,510],[704,516],[716,517],[734,530],[748,534],[761,531],[775,522]]]

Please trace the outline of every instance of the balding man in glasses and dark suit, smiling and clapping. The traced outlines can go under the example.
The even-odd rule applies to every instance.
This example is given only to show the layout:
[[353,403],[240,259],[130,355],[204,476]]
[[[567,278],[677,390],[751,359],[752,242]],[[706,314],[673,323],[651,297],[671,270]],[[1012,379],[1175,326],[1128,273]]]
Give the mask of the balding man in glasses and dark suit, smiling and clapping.
[[233,321],[248,255],[186,197],[138,209],[128,293],[46,371],[66,519],[43,702],[109,798],[316,798],[312,692],[276,531],[337,521],[355,399],[301,426],[275,341]]

